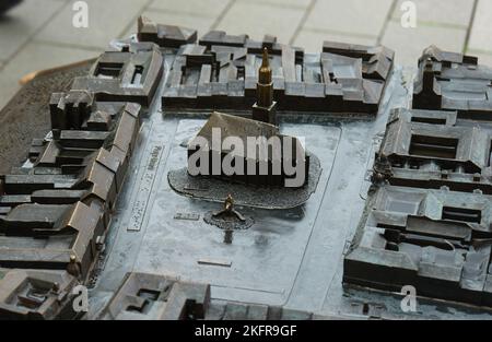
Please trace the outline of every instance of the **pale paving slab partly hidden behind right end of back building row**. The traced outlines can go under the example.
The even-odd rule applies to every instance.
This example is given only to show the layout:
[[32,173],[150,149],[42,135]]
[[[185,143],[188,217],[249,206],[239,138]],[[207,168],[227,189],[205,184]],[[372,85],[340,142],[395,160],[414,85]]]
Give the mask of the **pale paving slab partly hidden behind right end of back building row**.
[[302,30],[293,42],[293,45],[303,47],[306,52],[320,52],[323,42],[342,42],[349,44],[376,45],[377,38],[359,37],[352,35],[342,35],[329,32],[316,32],[311,30]]

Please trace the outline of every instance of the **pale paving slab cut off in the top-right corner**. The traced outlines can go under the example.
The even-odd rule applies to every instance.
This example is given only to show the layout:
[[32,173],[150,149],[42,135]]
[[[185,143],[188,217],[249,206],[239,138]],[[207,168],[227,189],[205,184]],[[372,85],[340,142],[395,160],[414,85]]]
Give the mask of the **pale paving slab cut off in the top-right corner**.
[[492,54],[492,1],[479,0],[471,27],[470,49],[490,51]]

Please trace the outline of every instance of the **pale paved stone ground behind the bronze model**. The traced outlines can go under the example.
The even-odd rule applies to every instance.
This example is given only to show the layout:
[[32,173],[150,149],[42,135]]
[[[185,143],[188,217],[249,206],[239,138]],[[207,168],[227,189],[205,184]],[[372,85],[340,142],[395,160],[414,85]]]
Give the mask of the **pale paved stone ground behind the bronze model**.
[[435,44],[492,66],[492,0],[413,0],[415,28],[401,25],[403,0],[86,0],[89,28],[73,27],[74,2],[24,0],[0,19],[0,108],[23,75],[97,56],[112,38],[134,32],[140,14],[199,34],[269,33],[307,51],[319,51],[323,40],[382,43],[407,66]]

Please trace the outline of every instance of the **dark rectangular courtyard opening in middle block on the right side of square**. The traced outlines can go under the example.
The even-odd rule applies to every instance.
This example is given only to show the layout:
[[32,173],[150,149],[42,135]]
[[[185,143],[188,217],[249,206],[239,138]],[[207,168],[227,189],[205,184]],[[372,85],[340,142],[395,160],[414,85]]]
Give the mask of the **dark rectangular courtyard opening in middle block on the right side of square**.
[[458,150],[458,139],[412,135],[410,141],[411,155],[455,160]]

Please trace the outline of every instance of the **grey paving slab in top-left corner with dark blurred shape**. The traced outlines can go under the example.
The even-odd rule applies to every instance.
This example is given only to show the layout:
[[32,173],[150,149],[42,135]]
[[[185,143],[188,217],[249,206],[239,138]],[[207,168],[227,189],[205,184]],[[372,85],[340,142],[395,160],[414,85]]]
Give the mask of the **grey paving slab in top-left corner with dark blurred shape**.
[[63,4],[60,0],[26,0],[0,17],[0,59],[11,58]]

